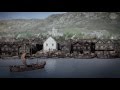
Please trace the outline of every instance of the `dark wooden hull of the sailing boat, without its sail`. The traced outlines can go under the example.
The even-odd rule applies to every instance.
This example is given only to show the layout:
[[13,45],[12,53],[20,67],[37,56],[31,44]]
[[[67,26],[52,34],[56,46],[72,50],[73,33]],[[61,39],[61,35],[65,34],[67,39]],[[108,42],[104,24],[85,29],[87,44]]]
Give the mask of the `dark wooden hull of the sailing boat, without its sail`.
[[46,62],[41,62],[39,64],[31,64],[31,65],[17,65],[17,66],[9,66],[10,72],[24,72],[42,69],[46,65]]

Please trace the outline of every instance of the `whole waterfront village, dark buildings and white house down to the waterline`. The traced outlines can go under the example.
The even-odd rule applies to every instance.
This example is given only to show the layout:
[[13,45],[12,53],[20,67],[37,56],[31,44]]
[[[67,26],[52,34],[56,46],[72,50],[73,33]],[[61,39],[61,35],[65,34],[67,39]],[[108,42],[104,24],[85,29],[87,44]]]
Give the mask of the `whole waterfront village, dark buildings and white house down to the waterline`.
[[59,41],[53,35],[44,39],[0,40],[0,58],[19,58],[23,52],[27,53],[28,58],[120,58],[120,40]]

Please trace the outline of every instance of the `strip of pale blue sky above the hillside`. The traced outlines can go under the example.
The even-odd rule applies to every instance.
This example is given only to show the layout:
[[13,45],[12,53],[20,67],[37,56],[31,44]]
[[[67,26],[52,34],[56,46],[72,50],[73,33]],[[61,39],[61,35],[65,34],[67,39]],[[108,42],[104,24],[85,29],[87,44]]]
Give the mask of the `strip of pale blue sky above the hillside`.
[[44,19],[52,14],[65,12],[0,12],[0,19]]

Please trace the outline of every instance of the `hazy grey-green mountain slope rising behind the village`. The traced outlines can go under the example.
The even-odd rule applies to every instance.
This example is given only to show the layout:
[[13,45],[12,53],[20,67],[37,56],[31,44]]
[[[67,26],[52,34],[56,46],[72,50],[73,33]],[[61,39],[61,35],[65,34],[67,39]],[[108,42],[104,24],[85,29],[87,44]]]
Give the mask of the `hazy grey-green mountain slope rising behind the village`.
[[45,33],[53,27],[63,33],[107,31],[119,34],[120,12],[67,12],[53,14],[46,19],[0,20],[0,34]]

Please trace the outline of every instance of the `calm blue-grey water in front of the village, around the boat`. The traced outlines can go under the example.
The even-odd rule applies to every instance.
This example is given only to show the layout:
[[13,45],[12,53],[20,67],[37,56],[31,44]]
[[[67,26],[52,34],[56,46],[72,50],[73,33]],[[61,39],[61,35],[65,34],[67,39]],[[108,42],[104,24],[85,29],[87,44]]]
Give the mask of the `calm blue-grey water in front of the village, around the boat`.
[[0,78],[120,78],[119,59],[30,59],[46,61],[44,69],[9,72],[9,65],[22,65],[20,59],[0,59]]

